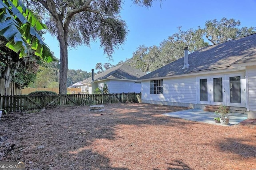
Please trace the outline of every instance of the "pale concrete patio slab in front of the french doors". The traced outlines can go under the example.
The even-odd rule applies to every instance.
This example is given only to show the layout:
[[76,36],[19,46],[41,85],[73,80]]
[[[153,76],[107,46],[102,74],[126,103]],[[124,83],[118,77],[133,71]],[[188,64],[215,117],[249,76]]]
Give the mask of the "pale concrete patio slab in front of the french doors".
[[[182,118],[190,121],[221,125],[220,123],[215,123],[214,117],[217,117],[217,115],[214,112],[205,112],[202,109],[188,109],[184,111],[164,113],[163,115],[170,116],[170,117],[178,117],[178,118]],[[246,114],[232,113],[230,115],[228,125],[237,125],[238,123],[246,119],[247,119]]]

